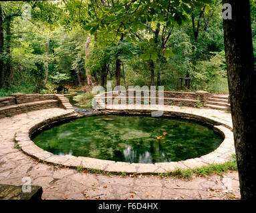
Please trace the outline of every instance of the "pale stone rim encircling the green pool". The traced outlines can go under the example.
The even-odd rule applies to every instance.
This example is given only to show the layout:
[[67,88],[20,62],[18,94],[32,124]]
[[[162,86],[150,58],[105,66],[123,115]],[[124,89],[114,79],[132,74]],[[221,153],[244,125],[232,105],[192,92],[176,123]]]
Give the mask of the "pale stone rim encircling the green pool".
[[[144,115],[150,114],[151,110],[114,110],[106,112],[106,114],[136,114]],[[194,120],[203,122],[205,124],[213,126],[213,130],[219,132],[224,138],[220,146],[209,154],[205,154],[199,158],[190,158],[188,160],[180,160],[178,162],[157,162],[155,164],[142,164],[142,163],[129,163],[129,162],[115,162],[112,160],[100,160],[97,158],[89,158],[82,156],[59,156],[47,152],[37,145],[30,139],[35,132],[41,131],[43,128],[56,124],[59,122],[66,122],[67,120],[74,119],[78,114],[74,112],[68,112],[61,116],[55,116],[43,122],[37,122],[27,126],[21,132],[17,132],[15,140],[19,147],[25,154],[47,162],[50,164],[59,164],[61,166],[67,166],[70,168],[77,168],[78,166],[84,168],[91,168],[95,170],[104,170],[106,172],[126,172],[138,173],[138,174],[158,174],[162,172],[170,172],[176,168],[198,168],[206,166],[211,163],[223,163],[227,162],[232,154],[235,154],[233,145],[233,132],[231,132],[231,126],[221,122],[216,118],[209,118],[207,116],[198,115],[193,112],[176,112],[176,111],[165,111],[164,116],[180,117],[187,120]]]

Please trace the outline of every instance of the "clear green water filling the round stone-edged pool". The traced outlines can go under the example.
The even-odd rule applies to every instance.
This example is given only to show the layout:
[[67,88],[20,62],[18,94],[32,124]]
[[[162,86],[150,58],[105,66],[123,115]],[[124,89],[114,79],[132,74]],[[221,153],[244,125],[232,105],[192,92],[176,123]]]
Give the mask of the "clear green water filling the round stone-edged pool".
[[118,115],[78,118],[33,139],[53,154],[135,163],[196,158],[212,152],[222,141],[211,128],[197,122]]

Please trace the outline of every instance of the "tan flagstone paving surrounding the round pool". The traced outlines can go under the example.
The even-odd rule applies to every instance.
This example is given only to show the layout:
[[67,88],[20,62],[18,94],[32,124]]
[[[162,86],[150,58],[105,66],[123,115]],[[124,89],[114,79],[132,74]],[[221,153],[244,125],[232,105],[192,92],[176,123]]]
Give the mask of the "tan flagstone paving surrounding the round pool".
[[[231,115],[219,110],[170,107],[186,112],[201,110],[203,114],[231,122]],[[232,199],[239,198],[237,172],[192,180],[160,178],[158,176],[106,176],[78,172],[71,168],[56,168],[37,162],[14,148],[13,138],[23,126],[67,110],[49,108],[0,119],[0,183],[22,185],[22,178],[43,187],[43,199]]]

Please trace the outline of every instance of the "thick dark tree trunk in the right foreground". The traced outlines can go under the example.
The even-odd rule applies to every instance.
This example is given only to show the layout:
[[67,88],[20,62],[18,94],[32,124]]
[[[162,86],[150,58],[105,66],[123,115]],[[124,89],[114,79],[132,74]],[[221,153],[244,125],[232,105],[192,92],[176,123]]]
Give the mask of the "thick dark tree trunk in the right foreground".
[[223,20],[229,97],[241,199],[256,198],[256,72],[249,0],[225,0],[232,19]]

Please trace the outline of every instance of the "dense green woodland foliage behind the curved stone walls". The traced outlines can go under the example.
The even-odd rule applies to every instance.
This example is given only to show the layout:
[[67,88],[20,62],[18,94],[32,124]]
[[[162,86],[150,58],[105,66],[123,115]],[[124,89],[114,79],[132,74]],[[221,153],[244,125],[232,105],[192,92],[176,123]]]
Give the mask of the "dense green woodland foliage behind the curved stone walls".
[[[106,6],[98,0],[29,2],[33,7],[30,21],[19,16],[23,3],[1,3],[5,16],[13,17],[11,53],[7,54],[5,45],[0,56],[5,63],[10,62],[11,72],[4,79],[0,96],[13,92],[54,93],[58,85],[80,87],[78,74],[85,85],[87,68],[92,81],[105,86],[107,80],[115,79],[117,59],[122,63],[121,84],[126,83],[126,87],[150,86],[153,61],[155,84],[164,86],[166,91],[178,90],[178,78],[189,74],[192,91],[228,93],[219,1],[109,3]],[[197,24],[203,8],[199,35],[195,39],[192,16]],[[255,14],[252,2],[251,16]],[[256,54],[255,21],[252,20],[251,25]],[[6,32],[6,25],[3,27]],[[48,33],[49,55],[46,57]],[[90,59],[86,58],[85,51],[88,36]],[[5,44],[6,39],[5,33]],[[49,77],[45,89],[46,61]]]

